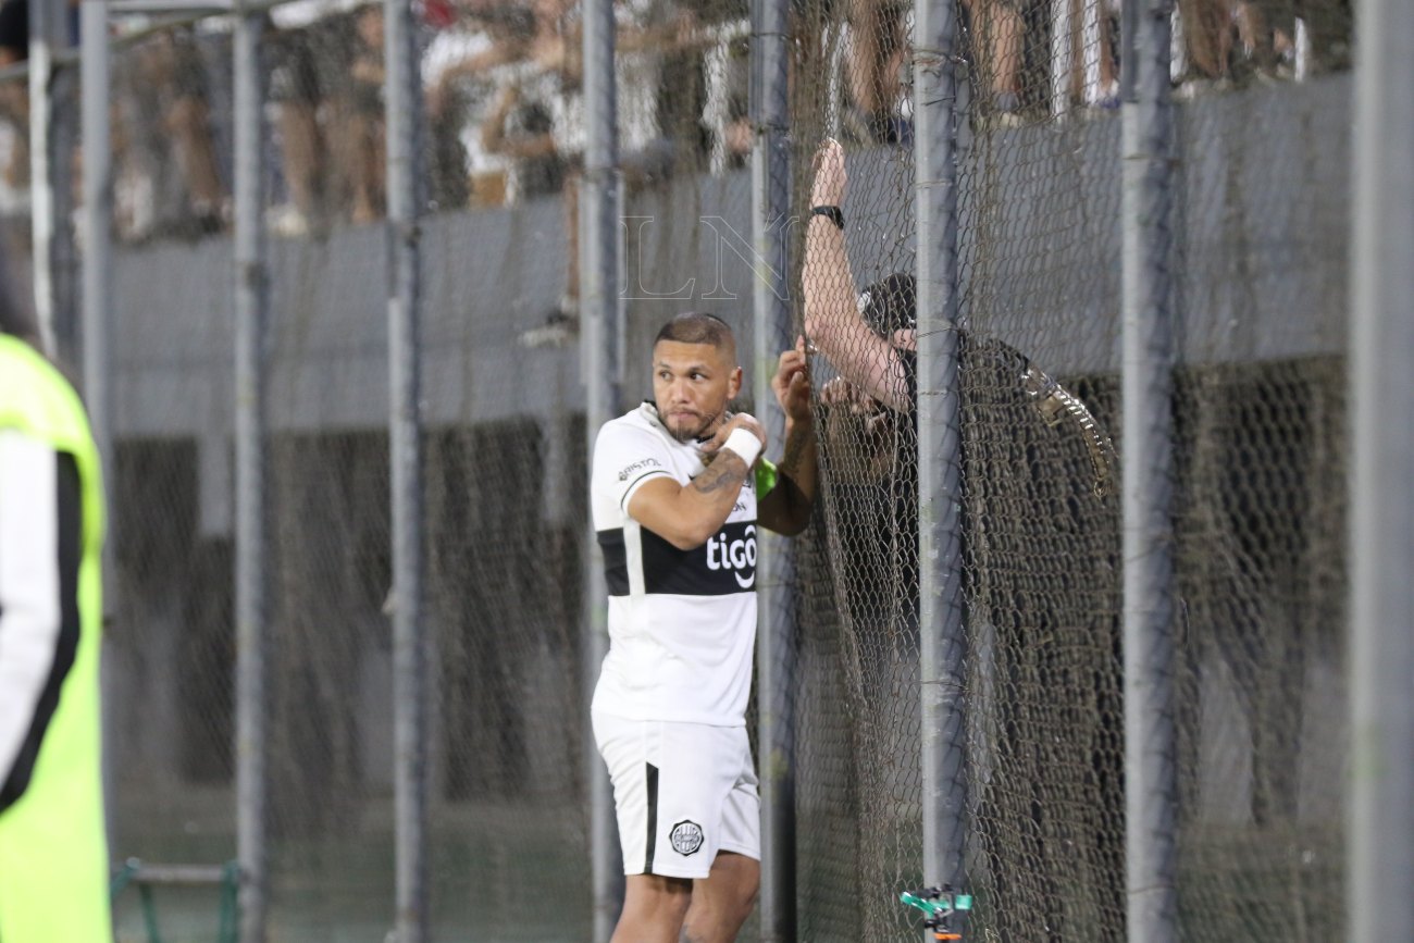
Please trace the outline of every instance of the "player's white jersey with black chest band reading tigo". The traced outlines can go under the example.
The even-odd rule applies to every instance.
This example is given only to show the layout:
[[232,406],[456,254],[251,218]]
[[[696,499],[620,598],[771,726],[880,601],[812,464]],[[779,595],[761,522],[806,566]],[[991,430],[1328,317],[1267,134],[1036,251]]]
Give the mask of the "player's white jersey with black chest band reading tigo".
[[756,638],[754,476],[701,547],[679,550],[628,513],[643,482],[686,485],[701,471],[699,445],[673,438],[650,403],[600,430],[590,503],[609,591],[609,653],[595,711],[745,725]]

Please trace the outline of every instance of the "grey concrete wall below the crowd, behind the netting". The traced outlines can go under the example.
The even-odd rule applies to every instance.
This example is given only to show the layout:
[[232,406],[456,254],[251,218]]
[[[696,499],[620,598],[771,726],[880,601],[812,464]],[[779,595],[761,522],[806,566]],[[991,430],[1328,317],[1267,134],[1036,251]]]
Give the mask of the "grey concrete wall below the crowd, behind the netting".
[[[1349,95],[1348,78],[1333,76],[1184,106],[1186,361],[1343,348]],[[963,286],[969,324],[1045,352],[1052,372],[1117,370],[1118,116],[993,130],[971,154],[962,253],[987,264],[966,274],[977,281]],[[911,264],[911,172],[887,150],[851,158],[846,212],[861,286]],[[639,352],[670,314],[713,310],[749,338],[749,175],[629,194],[625,215],[632,397],[648,383]],[[271,243],[276,428],[385,424],[386,250],[378,226]],[[556,382],[577,380],[574,353],[516,344],[563,290],[560,202],[426,219],[423,253],[428,421],[575,409],[577,383]],[[230,257],[228,239],[119,253],[119,435],[229,434]]]

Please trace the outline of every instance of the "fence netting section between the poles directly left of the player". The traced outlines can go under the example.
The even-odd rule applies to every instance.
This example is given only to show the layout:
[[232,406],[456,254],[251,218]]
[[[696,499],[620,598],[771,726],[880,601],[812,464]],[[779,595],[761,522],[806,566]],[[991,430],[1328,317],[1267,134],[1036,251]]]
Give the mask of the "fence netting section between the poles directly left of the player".
[[[590,936],[580,41],[564,4],[503,6],[423,54],[431,889],[437,923],[475,939]],[[468,204],[491,225],[445,212]]]

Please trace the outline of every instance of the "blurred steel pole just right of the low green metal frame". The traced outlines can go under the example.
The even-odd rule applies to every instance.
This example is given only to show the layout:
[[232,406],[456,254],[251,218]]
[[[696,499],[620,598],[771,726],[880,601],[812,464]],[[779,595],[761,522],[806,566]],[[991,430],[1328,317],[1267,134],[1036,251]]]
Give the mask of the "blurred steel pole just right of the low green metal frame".
[[263,17],[243,13],[233,42],[236,312],[236,857],[240,940],[264,943],[266,864],[266,355],[270,295],[262,157]]

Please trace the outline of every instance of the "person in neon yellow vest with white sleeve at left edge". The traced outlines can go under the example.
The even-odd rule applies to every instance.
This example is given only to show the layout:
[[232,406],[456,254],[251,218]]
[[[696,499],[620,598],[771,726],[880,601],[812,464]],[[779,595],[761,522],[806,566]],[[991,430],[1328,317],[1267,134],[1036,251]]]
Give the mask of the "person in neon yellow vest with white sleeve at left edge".
[[102,943],[103,489],[78,393],[20,328],[0,293],[0,943]]

